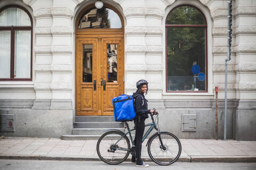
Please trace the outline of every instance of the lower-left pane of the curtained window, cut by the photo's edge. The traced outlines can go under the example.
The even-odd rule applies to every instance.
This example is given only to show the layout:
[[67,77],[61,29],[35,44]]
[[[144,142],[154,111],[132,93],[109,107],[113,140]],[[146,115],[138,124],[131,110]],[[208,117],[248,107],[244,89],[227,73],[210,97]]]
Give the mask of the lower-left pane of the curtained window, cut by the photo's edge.
[[10,78],[11,31],[0,31],[0,78]]

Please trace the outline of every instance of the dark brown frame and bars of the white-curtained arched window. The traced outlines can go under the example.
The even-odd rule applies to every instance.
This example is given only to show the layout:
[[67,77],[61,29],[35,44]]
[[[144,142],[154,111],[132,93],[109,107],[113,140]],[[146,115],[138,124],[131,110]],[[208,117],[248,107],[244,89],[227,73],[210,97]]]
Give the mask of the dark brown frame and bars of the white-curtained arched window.
[[[33,66],[33,19],[28,10],[20,5],[6,5],[0,9],[0,13],[7,8],[16,7],[20,8],[29,16],[30,26],[0,26],[0,31],[11,31],[11,63],[10,63],[10,78],[0,78],[0,81],[32,81],[32,66]],[[30,45],[30,78],[14,78],[14,57],[15,57],[15,31],[31,31],[31,45]]]

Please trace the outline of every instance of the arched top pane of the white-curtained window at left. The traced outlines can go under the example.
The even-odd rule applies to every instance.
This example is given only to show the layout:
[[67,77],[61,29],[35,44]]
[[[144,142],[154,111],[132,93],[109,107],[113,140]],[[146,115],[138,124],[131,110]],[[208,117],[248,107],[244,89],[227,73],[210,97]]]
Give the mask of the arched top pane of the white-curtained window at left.
[[0,26],[31,26],[28,14],[17,7],[10,7],[0,13]]

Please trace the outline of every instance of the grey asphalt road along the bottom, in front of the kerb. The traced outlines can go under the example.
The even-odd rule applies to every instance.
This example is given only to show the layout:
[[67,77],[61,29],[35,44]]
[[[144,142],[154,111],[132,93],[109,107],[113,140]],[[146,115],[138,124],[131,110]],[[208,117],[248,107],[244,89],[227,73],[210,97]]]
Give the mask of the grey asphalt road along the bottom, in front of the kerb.
[[[132,170],[142,167],[136,167],[134,163],[124,162],[119,165],[107,165],[103,162],[82,162],[82,161],[57,161],[57,160],[0,160],[0,169],[14,170],[56,170],[56,169],[99,169],[99,170]],[[149,163],[149,167],[146,169],[196,169],[196,170],[211,170],[211,169],[225,169],[225,170],[247,170],[256,169],[256,163],[174,163],[169,166],[159,166],[155,163]]]

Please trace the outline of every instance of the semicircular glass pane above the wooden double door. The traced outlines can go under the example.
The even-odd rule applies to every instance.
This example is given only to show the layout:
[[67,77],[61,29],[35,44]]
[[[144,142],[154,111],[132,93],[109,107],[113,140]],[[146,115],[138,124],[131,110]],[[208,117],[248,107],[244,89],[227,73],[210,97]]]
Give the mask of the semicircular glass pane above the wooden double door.
[[122,23],[113,10],[95,7],[87,10],[79,21],[78,28],[122,28]]

